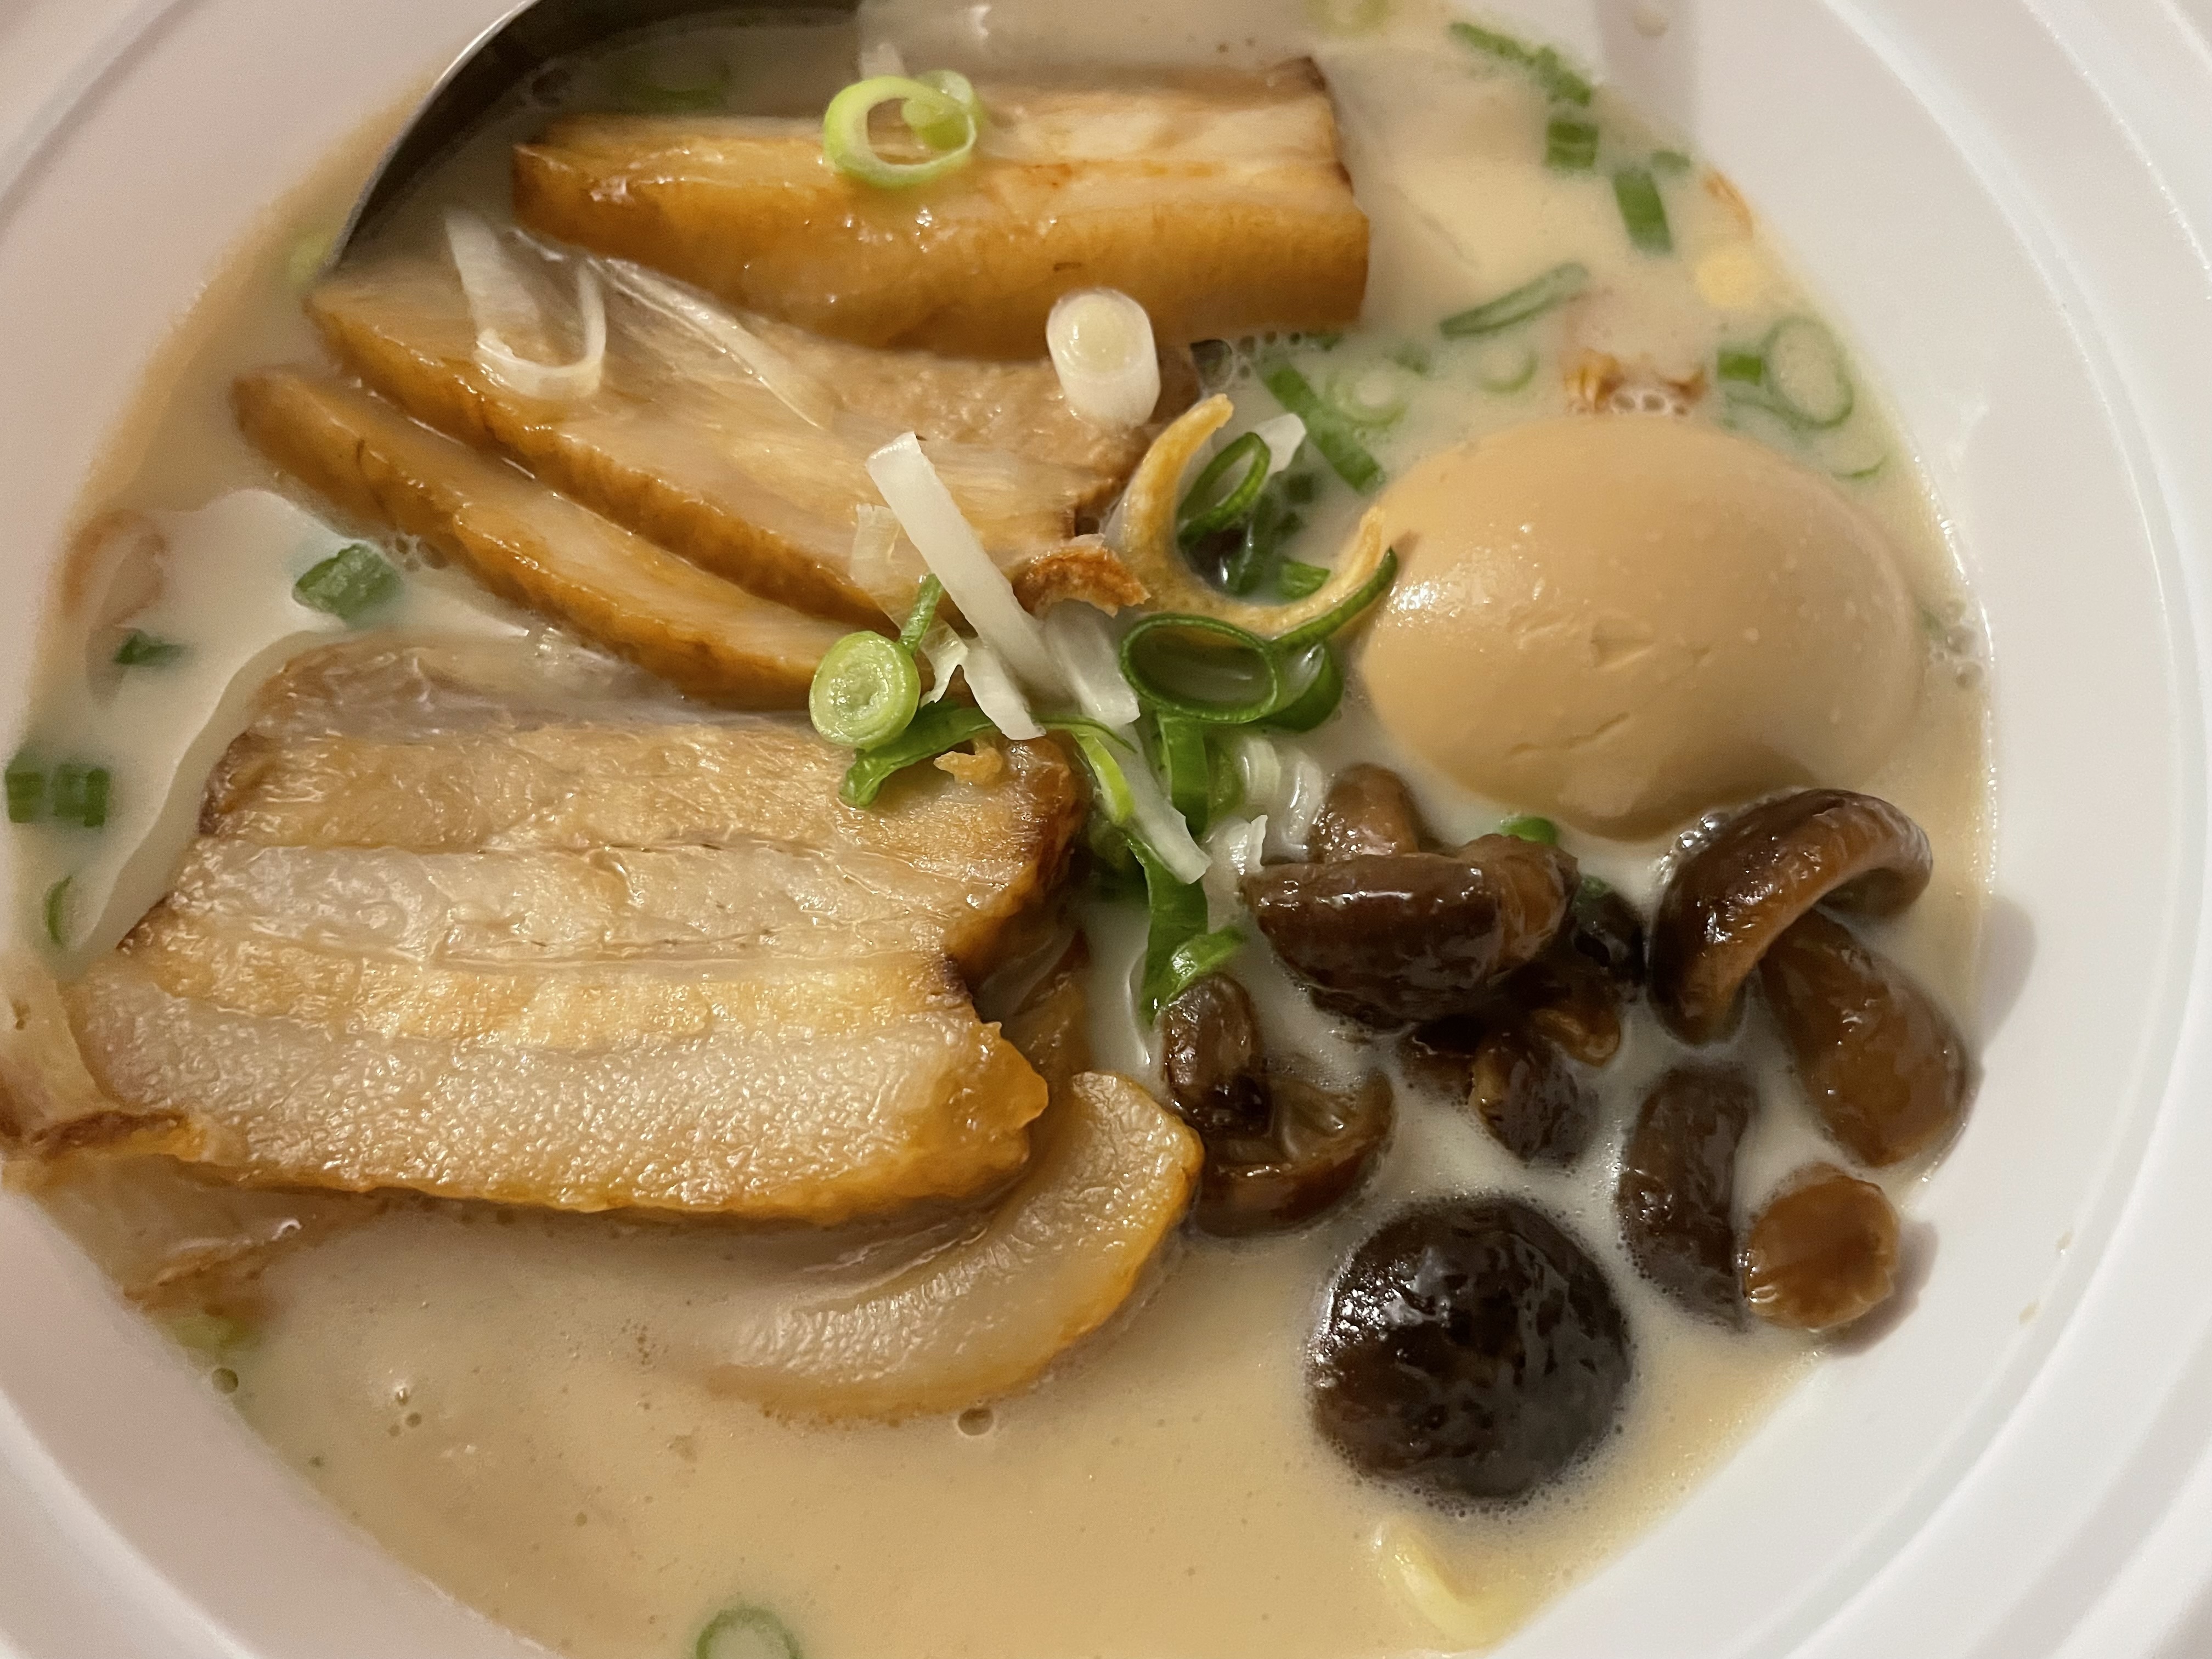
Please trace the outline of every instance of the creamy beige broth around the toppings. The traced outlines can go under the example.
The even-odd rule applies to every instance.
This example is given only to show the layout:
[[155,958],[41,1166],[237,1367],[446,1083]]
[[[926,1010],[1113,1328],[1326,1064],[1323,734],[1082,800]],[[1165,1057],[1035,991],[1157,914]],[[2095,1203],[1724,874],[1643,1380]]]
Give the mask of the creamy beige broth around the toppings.
[[[1371,442],[1391,471],[1564,411],[1571,330],[1573,343],[1690,374],[1719,345],[1756,341],[1772,321],[1816,310],[1701,159],[1668,190],[1679,257],[1637,254],[1604,173],[1544,168],[1544,97],[1447,42],[1442,20],[1402,7],[1385,29],[1343,33],[1276,0],[1110,15],[1068,15],[1046,0],[958,13],[914,0],[869,7],[860,33],[898,44],[914,66],[971,71],[1265,64],[1312,51],[1329,75],[1371,221],[1371,276],[1360,325],[1301,361],[1327,374],[1387,361],[1409,341],[1431,345],[1409,416]],[[741,69],[732,77],[741,104],[803,111],[849,77],[852,29],[768,33],[792,69],[757,80]],[[743,42],[708,35],[635,51],[648,64],[670,51],[768,60],[752,55],[761,35]],[[619,84],[626,62],[586,66],[573,95],[588,104]],[[1595,111],[1608,144],[1666,146],[1610,93],[1597,93]],[[420,215],[451,195],[495,208],[504,142],[538,119],[520,113],[462,155],[394,234],[420,234]],[[241,250],[150,376],[88,509],[197,507],[226,489],[276,484],[234,436],[228,383],[272,361],[319,356],[285,268],[303,237],[343,212],[369,148],[336,159]],[[1438,343],[1436,321],[1566,259],[1590,268],[1601,301],[1526,330],[1537,372],[1517,392],[1486,392],[1484,376],[1500,378],[1491,347]],[[1730,307],[1717,310],[1714,294]],[[1933,672],[1907,743],[1858,783],[1927,827],[1938,872],[1927,898],[1876,936],[1964,1013],[1989,836],[1973,613],[1909,445],[1863,369],[1858,378],[1860,409],[1812,451],[1774,422],[1736,418],[1827,471],[1874,469],[1843,487],[1896,542],[1929,615]],[[1256,383],[1239,378],[1232,389],[1239,427],[1276,414]],[[1719,420],[1728,409],[1714,394],[1690,418]],[[1325,560],[1360,507],[1347,489],[1323,491],[1292,557]],[[409,606],[394,622],[533,626],[511,613],[502,622],[502,608],[460,577],[420,566],[409,568]],[[1398,752],[1356,697],[1305,745],[1329,770],[1352,759],[1394,765],[1444,838],[1482,834],[1517,805],[1471,796]],[[126,765],[119,757],[117,770]],[[1568,832],[1566,847],[1648,911],[1666,841]],[[66,847],[24,860],[27,933],[64,856]],[[1099,1064],[1157,1084],[1150,1033],[1133,1015],[1141,909],[1093,907],[1086,925]],[[1259,1000],[1274,1051],[1301,1053],[1332,1077],[1376,1064],[1378,1048],[1316,1013],[1263,947],[1248,947],[1234,971]],[[688,1655],[732,1604],[774,1608],[812,1659],[1336,1659],[1486,1646],[1663,1515],[1818,1354],[1772,1329],[1701,1323],[1630,1267],[1613,1219],[1617,1146],[1646,1084],[1683,1051],[1650,1020],[1632,1020],[1628,1033],[1599,1079],[1604,1126],[1577,1168],[1528,1170],[1464,1110],[1400,1088],[1385,1161],[1354,1203],[1290,1237],[1179,1243],[1148,1294],[1046,1380],[958,1420],[792,1425],[712,1389],[721,1332],[748,1287],[781,1283],[794,1254],[836,1272],[838,1254],[865,1243],[856,1234],[763,1239],[719,1223],[301,1199],[303,1243],[153,1301],[175,1310],[204,1298],[237,1316],[250,1338],[206,1343],[201,1332],[197,1363],[232,1389],[272,1449],[400,1559],[568,1655]],[[1739,1164],[1739,1210],[1750,1214],[1790,1170],[1832,1150],[1781,1044],[1754,1033],[1739,1053],[1765,1097]],[[117,1172],[104,1194],[66,1188],[53,1199],[55,1217],[126,1290],[148,1290],[177,1243],[283,1230],[283,1194],[232,1203],[190,1183],[184,1203],[168,1172],[139,1175]],[[1916,1181],[1913,1168],[1885,1177],[1907,1203]],[[1637,1371],[1610,1442],[1555,1491],[1451,1515],[1360,1480],[1321,1442],[1303,1363],[1329,1274],[1376,1219],[1416,1194],[1469,1190],[1524,1194],[1575,1225],[1621,1296]],[[144,1203],[133,1210],[124,1197]],[[239,1214],[223,1214],[226,1203]],[[175,1219],[168,1239],[164,1214]],[[1924,1252],[1927,1241],[1913,1248]],[[1433,1553],[1433,1579],[1416,1571],[1409,1584],[1402,1564],[1422,1553]]]

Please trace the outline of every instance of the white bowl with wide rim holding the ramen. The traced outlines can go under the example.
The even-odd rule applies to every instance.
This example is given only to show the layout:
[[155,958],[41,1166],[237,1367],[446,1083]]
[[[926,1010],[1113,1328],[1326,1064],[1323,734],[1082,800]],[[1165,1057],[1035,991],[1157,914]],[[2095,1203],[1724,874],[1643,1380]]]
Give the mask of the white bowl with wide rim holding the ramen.
[[[2212,55],[2166,0],[1661,4],[1659,40],[1628,0],[1489,11],[1734,173],[1900,405],[1995,648],[1986,1082],[1911,1316],[1511,1655],[2203,1659]],[[9,726],[164,327],[502,9],[0,0]],[[524,1652],[330,1515],[29,1206],[0,1203],[0,1650]]]

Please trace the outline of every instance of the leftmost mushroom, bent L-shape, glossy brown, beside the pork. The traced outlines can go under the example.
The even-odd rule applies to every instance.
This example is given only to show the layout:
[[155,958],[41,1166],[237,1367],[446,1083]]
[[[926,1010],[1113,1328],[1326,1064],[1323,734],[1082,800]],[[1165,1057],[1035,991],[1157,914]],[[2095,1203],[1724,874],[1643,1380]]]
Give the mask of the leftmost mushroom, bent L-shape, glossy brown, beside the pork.
[[1270,1068],[1252,998],[1208,973],[1161,1011],[1168,1099],[1206,1144],[1201,1232],[1245,1237],[1340,1203],[1389,1139],[1387,1077],[1323,1088]]

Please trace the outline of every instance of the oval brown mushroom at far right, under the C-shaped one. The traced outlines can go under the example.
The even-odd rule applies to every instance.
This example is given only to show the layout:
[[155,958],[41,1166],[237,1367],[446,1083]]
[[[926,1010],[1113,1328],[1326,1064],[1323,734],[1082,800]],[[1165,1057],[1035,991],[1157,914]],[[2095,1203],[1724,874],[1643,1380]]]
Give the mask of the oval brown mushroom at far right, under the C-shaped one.
[[1966,1110],[1966,1044],[1889,958],[1829,916],[1801,916],[1759,980],[1827,1133],[1874,1168],[1940,1146]]

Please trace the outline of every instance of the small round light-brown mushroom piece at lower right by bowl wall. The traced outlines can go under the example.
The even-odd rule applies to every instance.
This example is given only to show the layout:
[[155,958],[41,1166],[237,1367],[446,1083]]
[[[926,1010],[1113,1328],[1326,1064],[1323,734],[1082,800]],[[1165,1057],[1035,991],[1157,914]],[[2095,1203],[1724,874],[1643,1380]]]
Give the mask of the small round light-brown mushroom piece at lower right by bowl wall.
[[1898,1212],[1834,1164],[1798,1170],[1743,1243],[1743,1301],[1770,1325],[1829,1332],[1889,1301]]

